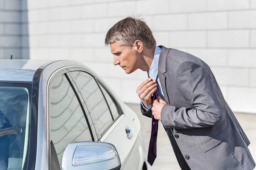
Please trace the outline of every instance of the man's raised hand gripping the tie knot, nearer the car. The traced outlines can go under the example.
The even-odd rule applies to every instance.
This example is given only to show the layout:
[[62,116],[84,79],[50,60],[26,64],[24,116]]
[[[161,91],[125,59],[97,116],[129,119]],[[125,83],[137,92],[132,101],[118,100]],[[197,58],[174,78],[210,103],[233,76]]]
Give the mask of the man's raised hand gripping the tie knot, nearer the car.
[[143,102],[143,104],[146,106],[146,108],[151,107],[153,102],[151,96],[154,94],[156,90],[157,83],[154,82],[151,78],[146,79],[137,88],[136,92],[140,97],[141,101]]

